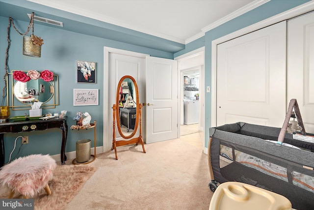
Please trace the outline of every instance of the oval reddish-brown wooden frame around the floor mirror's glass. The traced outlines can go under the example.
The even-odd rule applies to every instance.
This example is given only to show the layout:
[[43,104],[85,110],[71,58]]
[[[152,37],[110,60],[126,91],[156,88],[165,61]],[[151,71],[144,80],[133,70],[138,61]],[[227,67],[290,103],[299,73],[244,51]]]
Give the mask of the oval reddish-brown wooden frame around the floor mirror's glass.
[[[120,87],[122,85],[122,82],[125,80],[125,79],[131,79],[132,82],[133,82],[133,85],[134,85],[134,89],[133,92],[135,91],[135,94],[136,94],[136,119],[135,119],[135,124],[134,124],[134,128],[133,128],[133,132],[131,133],[131,135],[129,136],[126,136],[123,134],[122,130],[121,130],[121,120],[120,120],[120,110],[119,110],[119,94],[120,94]],[[139,121],[139,96],[138,96],[138,88],[137,88],[137,84],[134,80],[133,77],[127,75],[127,76],[124,76],[120,79],[119,83],[118,83],[118,87],[117,87],[117,93],[116,93],[116,119],[117,119],[117,127],[118,127],[118,131],[119,131],[119,134],[121,135],[122,138],[124,139],[131,139],[136,131],[137,131],[137,127],[138,127],[138,121]]]

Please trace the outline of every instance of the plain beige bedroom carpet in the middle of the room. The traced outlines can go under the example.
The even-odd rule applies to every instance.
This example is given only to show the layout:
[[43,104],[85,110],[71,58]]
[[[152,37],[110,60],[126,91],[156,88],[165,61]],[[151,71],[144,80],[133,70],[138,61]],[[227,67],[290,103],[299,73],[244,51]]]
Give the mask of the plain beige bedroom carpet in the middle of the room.
[[207,155],[175,139],[118,147],[97,156],[98,168],[67,210],[208,210]]

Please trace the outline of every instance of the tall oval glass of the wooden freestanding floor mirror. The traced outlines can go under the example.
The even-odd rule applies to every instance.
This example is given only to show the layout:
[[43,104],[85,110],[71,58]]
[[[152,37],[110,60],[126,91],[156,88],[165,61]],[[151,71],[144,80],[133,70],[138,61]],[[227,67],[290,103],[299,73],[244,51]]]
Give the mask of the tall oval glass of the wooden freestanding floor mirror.
[[118,120],[120,122],[120,130],[125,136],[130,136],[134,132],[136,122],[136,94],[133,81],[130,78],[125,78],[120,85],[118,95]]

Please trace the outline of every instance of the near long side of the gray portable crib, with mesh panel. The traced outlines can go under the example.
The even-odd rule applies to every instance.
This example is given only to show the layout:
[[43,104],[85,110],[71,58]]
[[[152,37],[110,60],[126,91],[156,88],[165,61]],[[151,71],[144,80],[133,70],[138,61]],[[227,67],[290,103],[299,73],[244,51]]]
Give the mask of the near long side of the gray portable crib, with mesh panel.
[[[224,127],[224,130],[235,126],[243,128],[240,125],[228,125],[228,129]],[[220,145],[219,147],[231,149],[231,153],[229,150],[229,154],[225,155],[232,157],[230,163],[223,168],[217,166],[217,161],[212,165],[216,181],[248,183],[287,197],[294,209],[314,209],[313,152],[277,146],[260,138],[237,134],[235,129],[231,129],[235,131],[234,133],[224,130],[218,130],[218,127],[214,129],[211,144],[215,150],[218,148],[217,144]],[[271,130],[264,130],[266,134],[271,132]],[[209,155],[215,153],[214,155],[217,156],[213,149],[210,153]],[[247,159],[238,160],[239,154]],[[275,167],[277,171],[272,172],[269,167]],[[298,180],[298,176],[306,179]]]

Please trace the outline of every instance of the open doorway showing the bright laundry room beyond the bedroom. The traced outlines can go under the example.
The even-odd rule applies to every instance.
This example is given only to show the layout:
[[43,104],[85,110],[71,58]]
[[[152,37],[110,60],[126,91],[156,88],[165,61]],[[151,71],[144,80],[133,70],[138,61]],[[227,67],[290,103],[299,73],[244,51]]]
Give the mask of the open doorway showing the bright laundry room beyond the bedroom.
[[204,75],[204,50],[203,47],[175,58],[178,60],[178,122],[180,123],[178,138],[203,150],[205,150],[205,83],[204,76],[202,77]]

